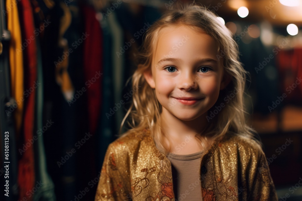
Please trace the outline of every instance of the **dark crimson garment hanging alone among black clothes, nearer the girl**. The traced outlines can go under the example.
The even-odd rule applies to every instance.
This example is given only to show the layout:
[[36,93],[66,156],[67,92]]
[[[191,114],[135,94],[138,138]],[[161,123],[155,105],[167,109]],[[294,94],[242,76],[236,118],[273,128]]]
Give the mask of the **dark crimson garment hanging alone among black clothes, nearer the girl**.
[[103,77],[102,75],[99,76],[98,73],[103,72],[103,33],[100,23],[96,19],[94,9],[83,5],[82,11],[85,24],[84,33],[89,35],[83,41],[83,65],[88,98],[88,121],[89,130],[94,134],[98,125],[101,107],[101,80]]

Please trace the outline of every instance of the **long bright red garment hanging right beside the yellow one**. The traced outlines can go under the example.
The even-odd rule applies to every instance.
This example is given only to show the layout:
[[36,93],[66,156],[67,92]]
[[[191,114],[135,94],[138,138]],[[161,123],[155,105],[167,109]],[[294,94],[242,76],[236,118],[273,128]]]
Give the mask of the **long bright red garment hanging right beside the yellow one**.
[[[22,45],[24,46],[24,144],[33,140],[34,136],[34,105],[36,88],[39,86],[37,80],[37,44],[34,34],[34,17],[29,0],[21,0],[18,3],[20,13],[20,24],[22,30]],[[22,143],[23,144],[23,143]],[[23,149],[23,145],[22,145]],[[30,192],[34,188],[35,169],[34,169],[34,146],[31,144],[24,150],[19,161],[18,184],[20,190],[19,199],[24,197],[31,201],[33,196]]]

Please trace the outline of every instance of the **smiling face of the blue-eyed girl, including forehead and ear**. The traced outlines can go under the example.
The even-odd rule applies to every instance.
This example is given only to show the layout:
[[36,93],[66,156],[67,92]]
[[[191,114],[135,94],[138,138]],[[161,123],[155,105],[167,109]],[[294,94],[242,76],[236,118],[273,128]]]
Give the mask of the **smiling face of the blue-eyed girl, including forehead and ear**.
[[162,115],[181,120],[205,118],[224,88],[223,59],[217,43],[184,25],[162,28],[144,77],[162,105]]

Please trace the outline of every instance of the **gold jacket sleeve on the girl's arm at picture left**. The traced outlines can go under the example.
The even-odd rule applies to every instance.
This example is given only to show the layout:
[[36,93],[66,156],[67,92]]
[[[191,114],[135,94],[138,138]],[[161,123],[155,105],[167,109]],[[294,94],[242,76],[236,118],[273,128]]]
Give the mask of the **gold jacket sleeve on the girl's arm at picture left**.
[[123,158],[118,155],[119,148],[111,143],[106,151],[101,175],[95,195],[95,201],[124,201],[131,199],[131,193],[127,192],[127,181],[123,176],[123,165],[117,159]]

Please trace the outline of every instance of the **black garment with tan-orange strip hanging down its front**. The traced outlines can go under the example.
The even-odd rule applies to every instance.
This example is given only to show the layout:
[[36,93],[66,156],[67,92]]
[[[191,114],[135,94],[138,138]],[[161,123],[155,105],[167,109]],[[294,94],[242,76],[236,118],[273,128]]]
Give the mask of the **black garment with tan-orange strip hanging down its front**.
[[[81,149],[77,147],[78,140],[83,138],[85,132],[89,132],[86,127],[86,110],[82,109],[86,106],[86,92],[78,94],[84,86],[83,43],[79,41],[82,36],[82,22],[79,18],[79,6],[75,1],[68,6],[65,2],[56,2],[45,18],[51,24],[45,29],[41,40],[42,49],[47,49],[42,52],[44,91],[47,91],[44,93],[43,112],[44,118],[54,124],[45,131],[43,137],[47,142],[47,163],[56,187],[56,200],[65,201],[74,199],[78,190],[82,190],[77,188],[78,178],[82,176],[77,174],[80,170],[77,162],[80,153],[85,149],[82,147],[89,148],[87,143]],[[73,91],[72,88],[76,94],[69,93]],[[60,140],[57,140],[58,136]],[[55,150],[53,144],[56,144]],[[73,149],[77,152],[70,157],[66,156]],[[68,157],[68,160],[64,157]],[[82,169],[81,172],[83,173]]]

